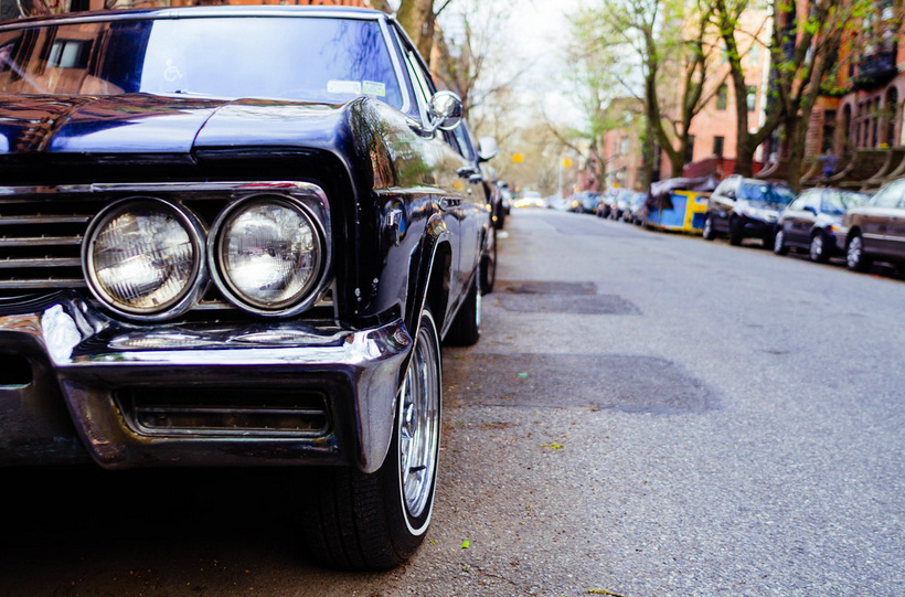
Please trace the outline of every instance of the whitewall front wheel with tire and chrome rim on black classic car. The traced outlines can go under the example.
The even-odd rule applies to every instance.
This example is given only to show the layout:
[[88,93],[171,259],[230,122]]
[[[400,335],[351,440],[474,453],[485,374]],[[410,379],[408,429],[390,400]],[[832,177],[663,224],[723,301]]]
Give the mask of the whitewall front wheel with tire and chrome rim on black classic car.
[[422,313],[398,393],[383,465],[318,469],[305,515],[307,546],[321,563],[379,571],[404,564],[424,541],[434,510],[440,445],[440,349],[430,311]]

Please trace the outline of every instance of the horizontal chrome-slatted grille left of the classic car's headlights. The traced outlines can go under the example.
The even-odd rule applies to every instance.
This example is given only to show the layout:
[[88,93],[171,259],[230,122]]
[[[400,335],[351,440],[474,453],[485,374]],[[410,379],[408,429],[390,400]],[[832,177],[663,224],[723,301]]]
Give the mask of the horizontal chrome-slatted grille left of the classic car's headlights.
[[82,238],[98,201],[0,200],[0,297],[85,288]]

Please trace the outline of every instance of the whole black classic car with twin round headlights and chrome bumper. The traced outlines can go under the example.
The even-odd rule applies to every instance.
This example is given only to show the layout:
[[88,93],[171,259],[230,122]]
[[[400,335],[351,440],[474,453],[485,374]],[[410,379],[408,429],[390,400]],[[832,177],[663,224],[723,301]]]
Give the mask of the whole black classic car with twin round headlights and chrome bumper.
[[0,462],[305,467],[312,554],[408,558],[492,239],[461,116],[376,11],[0,25]]

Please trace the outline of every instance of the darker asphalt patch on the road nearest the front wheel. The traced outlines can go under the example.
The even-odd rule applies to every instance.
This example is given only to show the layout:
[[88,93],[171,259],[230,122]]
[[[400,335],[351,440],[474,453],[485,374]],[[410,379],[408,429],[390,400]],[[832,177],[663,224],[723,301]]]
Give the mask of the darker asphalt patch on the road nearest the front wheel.
[[453,407],[589,408],[677,415],[716,408],[714,393],[656,356],[462,353],[444,362]]

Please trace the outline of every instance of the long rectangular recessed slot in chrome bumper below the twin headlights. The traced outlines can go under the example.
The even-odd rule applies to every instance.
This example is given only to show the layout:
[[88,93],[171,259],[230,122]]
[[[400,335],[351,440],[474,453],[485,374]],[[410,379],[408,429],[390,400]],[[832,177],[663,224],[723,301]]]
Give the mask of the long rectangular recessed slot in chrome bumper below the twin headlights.
[[322,437],[330,428],[319,392],[134,390],[117,394],[117,403],[129,426],[148,436]]

